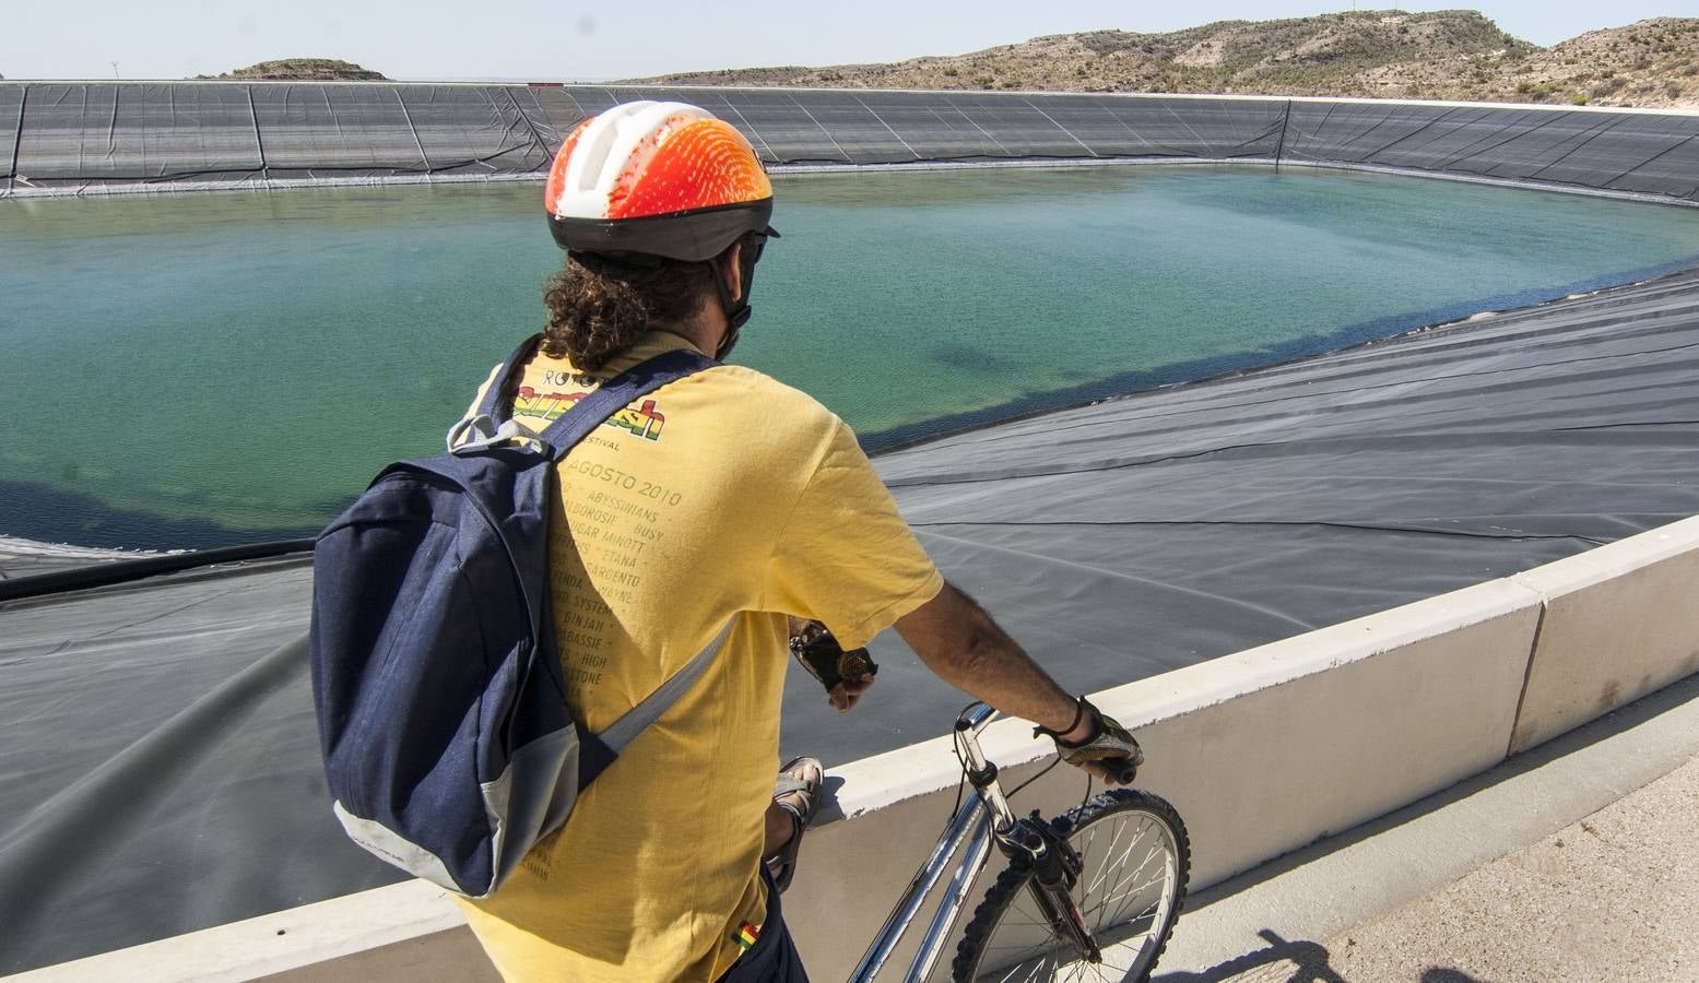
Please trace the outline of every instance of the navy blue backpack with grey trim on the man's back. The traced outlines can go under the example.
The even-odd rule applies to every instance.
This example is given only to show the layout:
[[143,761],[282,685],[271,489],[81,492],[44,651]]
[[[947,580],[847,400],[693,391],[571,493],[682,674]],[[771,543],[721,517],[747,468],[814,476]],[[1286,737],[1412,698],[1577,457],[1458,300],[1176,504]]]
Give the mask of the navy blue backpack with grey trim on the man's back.
[[379,857],[474,898],[566,822],[725,638],[608,730],[574,720],[549,601],[550,472],[630,401],[717,363],[658,355],[533,435],[501,407],[537,343],[508,358],[449,453],[384,469],[313,548],[313,699],[336,818]]

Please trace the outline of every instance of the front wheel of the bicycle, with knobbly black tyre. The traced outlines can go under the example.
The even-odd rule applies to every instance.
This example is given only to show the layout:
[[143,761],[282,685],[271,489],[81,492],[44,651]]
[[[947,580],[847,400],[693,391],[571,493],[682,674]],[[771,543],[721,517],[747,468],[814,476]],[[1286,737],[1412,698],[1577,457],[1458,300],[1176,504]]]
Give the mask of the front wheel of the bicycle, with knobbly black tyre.
[[1074,886],[1101,963],[1057,935],[1041,913],[1028,864],[1009,864],[962,934],[951,978],[1143,981],[1179,917],[1191,871],[1186,827],[1167,801],[1116,788],[1069,810],[1050,827],[1081,857]]

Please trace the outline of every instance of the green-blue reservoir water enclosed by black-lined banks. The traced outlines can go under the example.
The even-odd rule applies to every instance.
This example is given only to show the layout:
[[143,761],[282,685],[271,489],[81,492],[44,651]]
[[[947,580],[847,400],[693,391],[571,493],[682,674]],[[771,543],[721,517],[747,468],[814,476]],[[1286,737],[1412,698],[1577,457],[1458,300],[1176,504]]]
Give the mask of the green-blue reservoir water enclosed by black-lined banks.
[[[776,180],[736,362],[870,450],[1699,265],[1699,212],[1267,168]],[[316,531],[540,328],[540,185],[0,202],[0,535]]]

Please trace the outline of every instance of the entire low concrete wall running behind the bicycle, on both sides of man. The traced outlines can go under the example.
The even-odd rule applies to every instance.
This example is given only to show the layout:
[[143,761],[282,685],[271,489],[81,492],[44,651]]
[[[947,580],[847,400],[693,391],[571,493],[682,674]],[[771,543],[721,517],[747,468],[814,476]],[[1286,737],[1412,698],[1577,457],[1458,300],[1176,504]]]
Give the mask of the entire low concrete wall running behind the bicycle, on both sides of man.
[[[1193,888],[1391,812],[1699,671],[1699,518],[1527,574],[1429,598],[1094,694],[1135,727],[1140,788],[1193,842]],[[1006,788],[1047,742],[987,728]],[[821,980],[844,976],[941,830],[948,739],[833,769],[787,918]],[[841,779],[841,781],[836,781]],[[1055,769],[1016,801],[1084,795]],[[919,929],[914,930],[919,934]],[[900,956],[900,952],[899,952]],[[488,980],[454,905],[425,883],[207,929],[20,980]]]

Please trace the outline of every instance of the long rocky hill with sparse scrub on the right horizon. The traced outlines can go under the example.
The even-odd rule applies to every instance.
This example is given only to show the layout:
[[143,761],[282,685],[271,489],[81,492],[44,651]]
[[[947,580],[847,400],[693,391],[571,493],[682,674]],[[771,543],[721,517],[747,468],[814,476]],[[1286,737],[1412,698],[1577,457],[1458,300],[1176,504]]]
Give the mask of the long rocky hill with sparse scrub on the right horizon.
[[639,81],[1232,92],[1699,109],[1699,19],[1660,17],[1539,48],[1473,10],[1371,10],[1220,20],[1167,34],[1055,34],[894,65],[739,68]]

